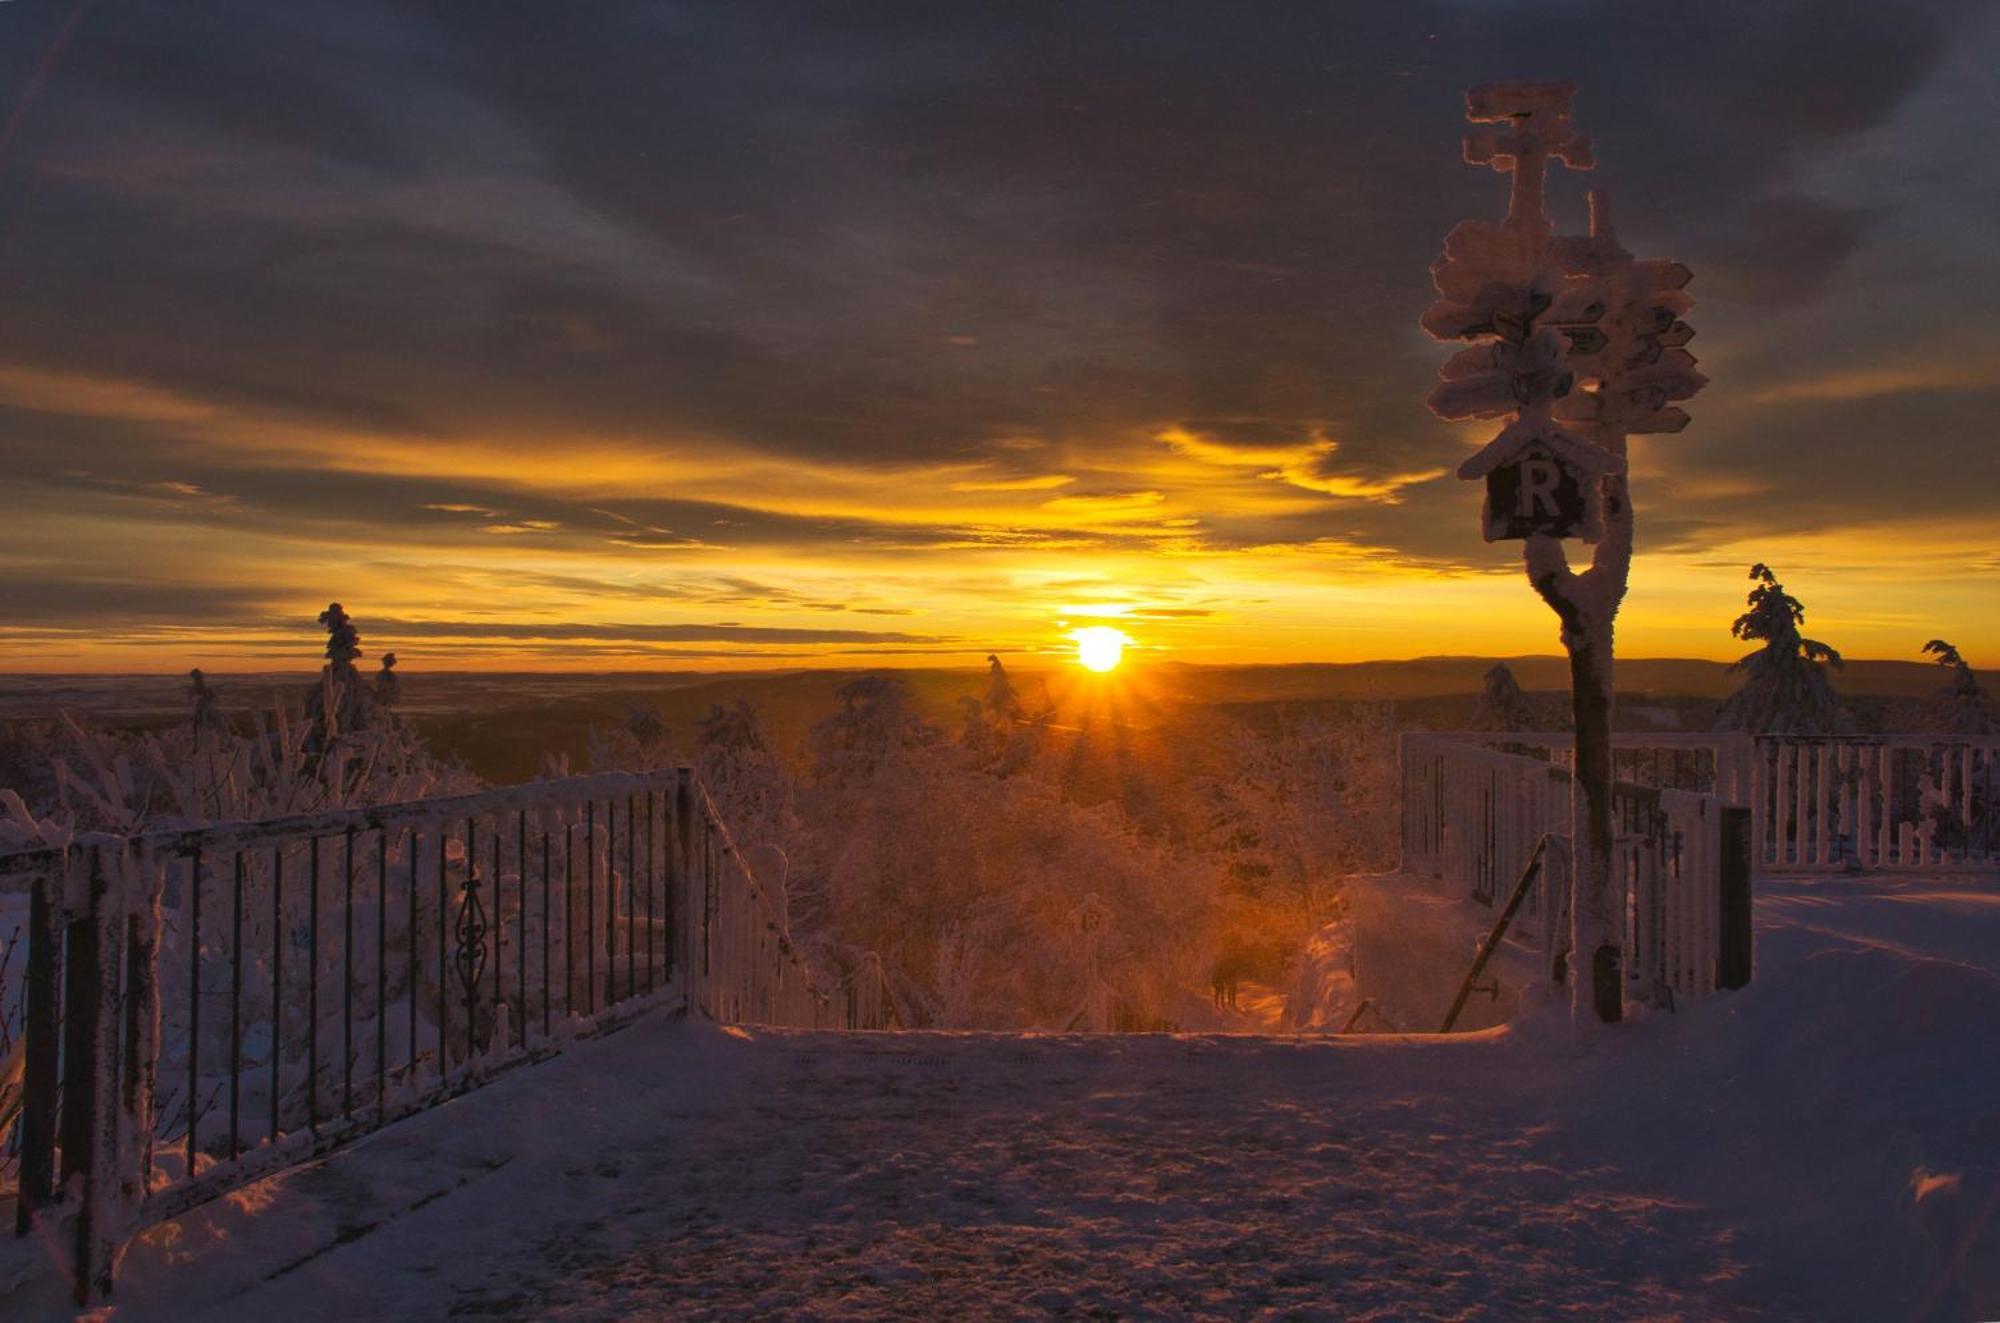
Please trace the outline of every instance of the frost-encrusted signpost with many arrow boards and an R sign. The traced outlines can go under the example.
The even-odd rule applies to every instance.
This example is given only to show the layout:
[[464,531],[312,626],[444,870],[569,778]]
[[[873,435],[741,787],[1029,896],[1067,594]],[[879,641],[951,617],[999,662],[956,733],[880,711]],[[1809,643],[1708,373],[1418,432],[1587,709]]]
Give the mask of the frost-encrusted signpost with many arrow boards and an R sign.
[[[1430,408],[1452,422],[1506,420],[1458,470],[1486,482],[1488,542],[1524,540],[1528,582],[1562,622],[1576,707],[1570,789],[1572,1007],[1622,1013],[1622,903],[1612,889],[1612,620],[1632,570],[1626,438],[1680,432],[1672,408],[1704,386],[1680,320],[1692,300],[1678,262],[1640,262],[1618,246],[1610,208],[1590,194],[1590,234],[1554,234],[1544,210],[1548,164],[1590,170],[1590,142],[1570,124],[1564,82],[1486,84],[1466,92],[1466,160],[1512,174],[1504,222],[1464,220],[1432,268],[1438,302],[1424,330],[1466,340],[1440,368]],[[1564,538],[1594,544],[1570,570]]]

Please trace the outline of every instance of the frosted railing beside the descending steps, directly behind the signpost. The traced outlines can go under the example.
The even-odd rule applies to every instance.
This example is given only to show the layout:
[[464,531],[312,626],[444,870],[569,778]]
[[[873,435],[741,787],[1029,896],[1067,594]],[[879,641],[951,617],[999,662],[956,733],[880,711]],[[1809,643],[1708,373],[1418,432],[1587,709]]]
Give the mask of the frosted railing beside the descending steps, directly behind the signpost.
[[[1544,835],[1568,835],[1570,773],[1526,741],[1502,751],[1486,739],[1514,735],[1404,735],[1402,867],[1490,905]],[[1748,923],[1748,813],[1720,795],[1620,779],[1612,819],[1626,995],[1670,1003],[1748,979],[1738,931]],[[1542,869],[1514,921],[1550,965],[1568,947],[1562,857]]]

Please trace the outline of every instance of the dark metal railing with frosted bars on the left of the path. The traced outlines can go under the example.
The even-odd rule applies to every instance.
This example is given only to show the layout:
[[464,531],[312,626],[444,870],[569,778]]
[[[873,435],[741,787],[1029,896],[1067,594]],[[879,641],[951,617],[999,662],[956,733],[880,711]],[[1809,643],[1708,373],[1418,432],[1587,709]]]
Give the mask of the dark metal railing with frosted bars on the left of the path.
[[116,1245],[652,1007],[880,1027],[690,769],[0,855],[30,891],[16,1231]]

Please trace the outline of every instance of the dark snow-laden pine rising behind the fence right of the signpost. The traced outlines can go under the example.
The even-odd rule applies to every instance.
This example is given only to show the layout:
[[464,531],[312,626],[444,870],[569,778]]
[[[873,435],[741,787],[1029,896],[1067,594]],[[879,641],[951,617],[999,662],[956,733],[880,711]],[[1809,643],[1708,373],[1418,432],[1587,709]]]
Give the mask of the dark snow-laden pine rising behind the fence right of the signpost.
[[1842,725],[1840,695],[1830,669],[1840,669],[1840,654],[1820,640],[1800,634],[1806,606],[1784,592],[1770,566],[1750,566],[1756,588],[1748,610],[1730,624],[1730,634],[1746,644],[1762,644],[1730,669],[1744,683],[1722,705],[1716,729],[1752,735],[1832,735]]

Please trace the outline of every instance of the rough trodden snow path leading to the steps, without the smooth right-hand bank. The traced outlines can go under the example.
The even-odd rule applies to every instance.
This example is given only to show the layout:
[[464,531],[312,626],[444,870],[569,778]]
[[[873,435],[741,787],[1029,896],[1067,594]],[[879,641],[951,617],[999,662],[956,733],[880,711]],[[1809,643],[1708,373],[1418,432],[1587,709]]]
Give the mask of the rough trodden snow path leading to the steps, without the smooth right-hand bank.
[[120,1315],[1734,1315],[1712,1221],[1554,1169],[1490,1055],[646,1025],[136,1249]]

